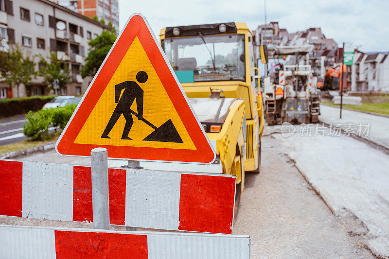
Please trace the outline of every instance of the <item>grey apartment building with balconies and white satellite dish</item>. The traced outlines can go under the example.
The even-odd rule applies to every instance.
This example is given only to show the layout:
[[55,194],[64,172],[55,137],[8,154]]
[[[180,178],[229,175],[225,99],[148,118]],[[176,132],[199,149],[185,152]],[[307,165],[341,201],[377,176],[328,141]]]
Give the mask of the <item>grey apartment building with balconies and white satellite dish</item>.
[[[50,0],[0,0],[0,33],[3,42],[19,44],[23,52],[48,57],[56,52],[58,60],[71,69],[71,83],[61,87],[61,95],[83,94],[91,78],[82,79],[79,70],[85,64],[88,41],[110,27],[71,11]],[[7,49],[7,46],[5,46]],[[38,70],[42,64],[38,63]],[[10,89],[0,82],[0,98],[50,94],[42,78],[31,84]]]

